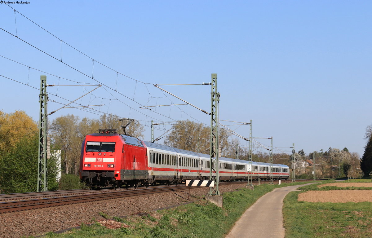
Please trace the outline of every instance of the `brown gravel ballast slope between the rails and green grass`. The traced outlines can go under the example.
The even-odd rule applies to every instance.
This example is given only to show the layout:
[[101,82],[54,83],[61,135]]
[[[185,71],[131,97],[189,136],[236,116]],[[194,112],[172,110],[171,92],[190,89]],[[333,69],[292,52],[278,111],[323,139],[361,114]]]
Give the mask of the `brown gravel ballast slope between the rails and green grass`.
[[[182,186],[182,185],[180,185]],[[246,187],[246,184],[229,184],[219,186],[221,193],[232,192]],[[208,187],[190,190],[190,201],[195,201],[208,194]],[[126,197],[98,202],[79,203],[67,206],[43,208],[22,212],[0,214],[0,238],[18,238],[21,236],[38,236],[49,231],[79,226],[82,222],[91,223],[92,218],[103,219],[99,212],[113,216],[128,216],[146,213],[151,210],[180,205],[187,202],[187,193],[166,192],[147,196]]]

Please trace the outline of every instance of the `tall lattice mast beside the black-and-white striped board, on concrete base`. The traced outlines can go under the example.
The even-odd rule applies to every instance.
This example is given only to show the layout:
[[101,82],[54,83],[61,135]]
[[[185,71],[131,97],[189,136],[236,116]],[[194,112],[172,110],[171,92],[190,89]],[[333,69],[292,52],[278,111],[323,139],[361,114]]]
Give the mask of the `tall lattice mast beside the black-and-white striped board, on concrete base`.
[[210,149],[210,170],[209,180],[214,180],[215,187],[209,187],[209,195],[219,196],[218,182],[218,157],[219,157],[219,138],[218,138],[218,103],[220,94],[217,92],[217,74],[212,74],[211,91],[211,149]]

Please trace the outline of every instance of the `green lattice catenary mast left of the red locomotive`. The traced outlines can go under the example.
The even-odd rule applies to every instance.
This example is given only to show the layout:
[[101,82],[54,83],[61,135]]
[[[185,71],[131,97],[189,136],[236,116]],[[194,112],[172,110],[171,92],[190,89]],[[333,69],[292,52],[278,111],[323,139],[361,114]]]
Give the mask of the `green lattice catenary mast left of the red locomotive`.
[[40,118],[39,118],[39,157],[38,157],[38,192],[48,191],[47,169],[47,76],[40,76]]

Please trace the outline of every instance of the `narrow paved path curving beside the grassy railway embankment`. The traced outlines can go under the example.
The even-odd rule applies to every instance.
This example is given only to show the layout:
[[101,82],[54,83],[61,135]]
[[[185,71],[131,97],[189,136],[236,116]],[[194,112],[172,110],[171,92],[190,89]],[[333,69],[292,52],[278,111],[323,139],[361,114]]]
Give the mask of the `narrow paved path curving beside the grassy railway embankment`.
[[244,212],[225,238],[284,238],[283,199],[298,187],[281,187],[260,197]]

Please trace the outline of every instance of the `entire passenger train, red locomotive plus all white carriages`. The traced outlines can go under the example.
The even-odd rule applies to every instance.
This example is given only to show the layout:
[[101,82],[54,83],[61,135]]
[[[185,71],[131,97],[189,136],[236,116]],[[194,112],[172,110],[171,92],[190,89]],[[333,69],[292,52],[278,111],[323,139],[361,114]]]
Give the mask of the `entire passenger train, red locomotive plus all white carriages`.
[[[81,147],[80,179],[90,187],[137,187],[209,179],[209,155],[141,141],[114,129],[98,132],[87,135]],[[247,180],[248,174],[252,179],[267,179],[270,167],[274,179],[289,178],[287,165],[249,163],[219,158],[219,179]]]

